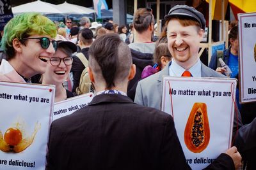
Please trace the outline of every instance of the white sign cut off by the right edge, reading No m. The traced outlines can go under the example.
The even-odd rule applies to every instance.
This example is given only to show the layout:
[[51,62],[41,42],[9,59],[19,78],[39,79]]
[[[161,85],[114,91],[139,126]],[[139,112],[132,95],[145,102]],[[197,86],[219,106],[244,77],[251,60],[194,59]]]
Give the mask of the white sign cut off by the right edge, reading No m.
[[256,13],[238,15],[240,102],[256,101]]

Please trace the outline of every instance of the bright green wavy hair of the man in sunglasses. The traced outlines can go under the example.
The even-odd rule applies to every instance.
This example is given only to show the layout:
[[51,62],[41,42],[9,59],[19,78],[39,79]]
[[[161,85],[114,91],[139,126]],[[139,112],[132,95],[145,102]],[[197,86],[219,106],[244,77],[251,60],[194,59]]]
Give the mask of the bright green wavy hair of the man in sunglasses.
[[1,47],[6,52],[6,59],[15,56],[12,46],[13,39],[17,38],[21,43],[23,38],[38,34],[55,38],[57,34],[56,25],[40,13],[23,13],[12,18],[4,27],[4,34],[1,40]]

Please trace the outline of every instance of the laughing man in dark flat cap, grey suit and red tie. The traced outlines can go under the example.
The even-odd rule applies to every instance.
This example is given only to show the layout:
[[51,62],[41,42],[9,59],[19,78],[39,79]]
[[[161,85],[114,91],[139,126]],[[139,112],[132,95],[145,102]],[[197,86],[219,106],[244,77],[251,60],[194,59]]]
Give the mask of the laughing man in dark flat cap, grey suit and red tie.
[[[193,77],[225,77],[205,66],[198,57],[199,45],[205,28],[205,18],[202,13],[190,6],[177,5],[164,19],[167,27],[168,48],[173,60],[162,71],[139,81],[134,99],[135,103],[159,110],[161,109],[163,76],[188,76],[184,75],[188,73]],[[238,124],[241,126],[241,115],[240,113],[238,115]],[[234,120],[237,120],[236,116]],[[237,124],[234,124],[235,129],[236,127]],[[223,160],[228,162],[231,157],[234,163],[232,160],[232,164],[223,163],[221,165],[223,169],[234,169],[241,164],[241,155],[236,147],[230,148],[225,156]]]

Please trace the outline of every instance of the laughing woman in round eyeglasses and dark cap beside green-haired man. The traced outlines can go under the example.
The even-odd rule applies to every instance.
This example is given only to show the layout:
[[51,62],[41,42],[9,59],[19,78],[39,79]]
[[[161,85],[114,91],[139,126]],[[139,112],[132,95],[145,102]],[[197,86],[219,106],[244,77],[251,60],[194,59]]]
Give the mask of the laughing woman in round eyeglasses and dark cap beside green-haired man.
[[42,74],[42,84],[55,85],[55,102],[63,101],[69,97],[76,96],[63,87],[72,67],[72,53],[76,52],[76,45],[70,41],[57,41],[58,50],[49,60],[46,71]]

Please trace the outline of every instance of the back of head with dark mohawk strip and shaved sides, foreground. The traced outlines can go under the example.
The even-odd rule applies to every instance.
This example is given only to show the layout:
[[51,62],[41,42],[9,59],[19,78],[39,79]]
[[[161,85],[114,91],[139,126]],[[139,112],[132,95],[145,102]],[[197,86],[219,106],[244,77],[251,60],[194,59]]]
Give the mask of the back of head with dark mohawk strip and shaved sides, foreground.
[[106,82],[106,89],[122,83],[129,75],[132,65],[131,50],[118,34],[109,33],[95,39],[89,56],[89,67],[98,80],[100,78]]

